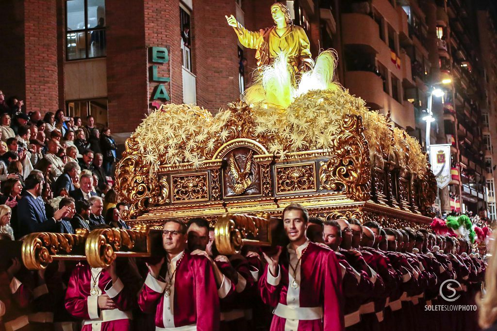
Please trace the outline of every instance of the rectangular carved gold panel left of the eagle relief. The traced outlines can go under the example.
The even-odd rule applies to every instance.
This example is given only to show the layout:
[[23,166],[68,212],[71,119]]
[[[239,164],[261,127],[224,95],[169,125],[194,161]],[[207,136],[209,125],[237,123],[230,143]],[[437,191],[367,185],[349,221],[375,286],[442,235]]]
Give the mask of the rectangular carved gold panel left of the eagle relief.
[[171,175],[171,201],[191,202],[209,200],[207,172]]

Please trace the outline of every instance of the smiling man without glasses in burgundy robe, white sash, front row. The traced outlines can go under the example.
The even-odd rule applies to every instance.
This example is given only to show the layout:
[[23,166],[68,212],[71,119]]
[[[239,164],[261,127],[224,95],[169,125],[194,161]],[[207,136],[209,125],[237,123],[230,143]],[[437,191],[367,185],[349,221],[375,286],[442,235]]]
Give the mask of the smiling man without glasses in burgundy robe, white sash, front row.
[[262,301],[274,309],[271,331],[344,329],[341,271],[333,251],[306,238],[309,214],[298,203],[283,210],[290,244],[264,259],[259,279]]

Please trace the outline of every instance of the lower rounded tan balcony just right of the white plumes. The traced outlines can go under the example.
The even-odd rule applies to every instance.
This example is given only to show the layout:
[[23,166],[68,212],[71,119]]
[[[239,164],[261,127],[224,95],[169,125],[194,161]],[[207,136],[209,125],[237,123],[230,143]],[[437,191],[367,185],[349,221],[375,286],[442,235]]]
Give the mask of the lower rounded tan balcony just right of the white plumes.
[[383,79],[371,71],[345,72],[345,87],[350,94],[365,100],[372,109],[385,107],[386,94],[383,91]]

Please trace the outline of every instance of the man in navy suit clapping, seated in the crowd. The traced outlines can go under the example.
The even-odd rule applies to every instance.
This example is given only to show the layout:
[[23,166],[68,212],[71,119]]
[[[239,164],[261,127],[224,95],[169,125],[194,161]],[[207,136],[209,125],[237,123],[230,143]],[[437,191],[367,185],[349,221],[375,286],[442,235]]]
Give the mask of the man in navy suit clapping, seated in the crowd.
[[68,206],[63,206],[54,213],[54,217],[47,219],[45,204],[41,198],[43,176],[34,173],[24,180],[26,195],[17,205],[18,233],[16,238],[23,237],[33,232],[57,232],[60,220],[69,212]]

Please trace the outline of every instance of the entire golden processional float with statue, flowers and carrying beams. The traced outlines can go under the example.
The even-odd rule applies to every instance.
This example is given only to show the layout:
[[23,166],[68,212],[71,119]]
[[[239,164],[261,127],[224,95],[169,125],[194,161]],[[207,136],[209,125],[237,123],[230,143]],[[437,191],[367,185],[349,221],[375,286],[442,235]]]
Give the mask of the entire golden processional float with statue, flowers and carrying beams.
[[[105,267],[119,256],[149,257],[162,249],[158,229],[172,217],[209,220],[222,254],[268,246],[271,222],[291,202],[326,219],[428,227],[437,185],[418,141],[333,83],[334,54],[312,60],[287,12],[273,4],[275,26],[264,33],[227,17],[240,42],[257,49],[257,78],[241,99],[215,116],[162,105],[126,140],[115,189],[130,204],[132,230],[31,234],[25,265],[86,259]],[[282,38],[288,51],[276,54]]]

